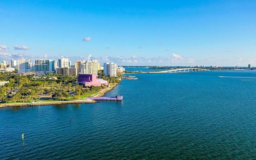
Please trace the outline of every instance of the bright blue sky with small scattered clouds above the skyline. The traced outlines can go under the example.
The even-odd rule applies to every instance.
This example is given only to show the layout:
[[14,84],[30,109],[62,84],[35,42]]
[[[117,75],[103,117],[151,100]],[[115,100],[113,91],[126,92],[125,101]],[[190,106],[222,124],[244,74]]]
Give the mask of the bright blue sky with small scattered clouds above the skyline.
[[256,66],[255,0],[0,0],[0,61]]

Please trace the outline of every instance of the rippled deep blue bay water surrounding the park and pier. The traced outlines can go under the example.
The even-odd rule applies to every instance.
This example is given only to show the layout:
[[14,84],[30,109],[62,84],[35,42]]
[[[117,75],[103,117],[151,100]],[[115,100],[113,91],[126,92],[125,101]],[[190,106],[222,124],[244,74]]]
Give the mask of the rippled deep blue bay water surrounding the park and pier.
[[256,71],[127,75],[122,102],[0,108],[0,159],[256,158]]

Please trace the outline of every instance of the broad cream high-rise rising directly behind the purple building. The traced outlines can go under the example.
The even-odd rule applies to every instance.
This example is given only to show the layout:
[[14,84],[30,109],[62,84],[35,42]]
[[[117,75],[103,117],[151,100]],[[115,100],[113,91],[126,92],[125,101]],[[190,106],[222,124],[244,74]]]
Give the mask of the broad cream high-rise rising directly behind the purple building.
[[85,64],[81,64],[81,74],[98,75],[98,70],[100,70],[100,63],[97,60],[86,61]]

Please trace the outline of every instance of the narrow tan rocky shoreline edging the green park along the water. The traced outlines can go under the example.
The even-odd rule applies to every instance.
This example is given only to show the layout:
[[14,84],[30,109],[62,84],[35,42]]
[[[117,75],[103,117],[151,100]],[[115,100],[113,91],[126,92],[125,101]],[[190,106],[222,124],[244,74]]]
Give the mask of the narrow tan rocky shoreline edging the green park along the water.
[[[117,83],[119,84],[119,83]],[[99,92],[97,92],[95,97],[101,97],[104,96],[104,94],[110,90],[112,90],[116,85],[116,83],[111,86],[110,88],[105,88]],[[33,102],[33,103],[7,103],[7,104],[0,104],[0,108],[2,107],[17,107],[17,106],[46,106],[46,105],[56,105],[56,104],[80,104],[80,103],[96,103],[96,100],[89,100],[89,99],[85,99],[85,100],[68,100],[68,101],[56,101],[56,102],[44,102],[44,101],[40,101],[40,102]]]

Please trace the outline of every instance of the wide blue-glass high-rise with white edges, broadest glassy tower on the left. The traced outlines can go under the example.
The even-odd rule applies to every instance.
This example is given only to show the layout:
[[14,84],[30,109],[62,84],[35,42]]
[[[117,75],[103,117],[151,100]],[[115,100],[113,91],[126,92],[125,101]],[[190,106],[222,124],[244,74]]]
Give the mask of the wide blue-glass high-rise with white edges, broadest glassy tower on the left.
[[54,60],[36,60],[34,70],[36,73],[50,73],[55,71]]

